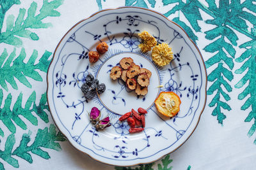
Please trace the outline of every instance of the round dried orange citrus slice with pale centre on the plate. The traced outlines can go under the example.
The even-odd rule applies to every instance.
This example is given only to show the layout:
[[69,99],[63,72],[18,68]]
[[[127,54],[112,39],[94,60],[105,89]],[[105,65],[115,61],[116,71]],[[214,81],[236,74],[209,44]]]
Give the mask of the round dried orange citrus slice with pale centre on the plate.
[[174,92],[161,92],[155,100],[157,110],[166,117],[177,115],[180,103],[180,97]]

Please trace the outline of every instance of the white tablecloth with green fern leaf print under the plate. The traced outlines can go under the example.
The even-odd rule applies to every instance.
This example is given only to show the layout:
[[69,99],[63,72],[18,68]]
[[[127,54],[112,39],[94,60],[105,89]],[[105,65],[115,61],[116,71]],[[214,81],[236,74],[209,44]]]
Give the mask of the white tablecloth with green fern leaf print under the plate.
[[[207,104],[179,150],[135,167],[102,164],[52,121],[47,68],[63,35],[92,13],[140,6],[181,25],[207,67]],[[255,169],[256,1],[0,0],[0,169]]]

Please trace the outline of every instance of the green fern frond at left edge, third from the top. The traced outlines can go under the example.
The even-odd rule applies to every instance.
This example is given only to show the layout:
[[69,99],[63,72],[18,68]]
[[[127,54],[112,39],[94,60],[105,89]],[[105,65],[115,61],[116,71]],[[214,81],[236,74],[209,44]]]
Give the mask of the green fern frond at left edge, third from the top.
[[[12,94],[8,94],[6,99],[4,100],[4,106],[3,108],[0,108],[0,120],[3,122],[3,124],[9,129],[10,132],[15,133],[16,127],[13,124],[19,125],[20,128],[26,130],[27,125],[20,119],[20,116],[26,118],[31,122],[33,125],[38,124],[38,120],[35,116],[33,116],[33,112],[38,115],[38,117],[42,118],[45,123],[49,122],[48,115],[45,112],[45,110],[49,111],[49,108],[47,106],[47,99],[46,99],[46,93],[42,95],[40,99],[40,103],[38,106],[36,106],[36,93],[33,92],[31,96],[29,96],[25,107],[22,108],[22,93],[19,94],[19,97],[17,98],[12,110],[10,109],[10,106],[12,104]],[[3,101],[3,90],[0,89],[0,97],[1,101]],[[31,106],[33,106],[31,108]],[[12,122],[13,121],[13,122]],[[0,128],[1,129],[1,128]],[[4,136],[4,133],[1,129],[0,135]]]

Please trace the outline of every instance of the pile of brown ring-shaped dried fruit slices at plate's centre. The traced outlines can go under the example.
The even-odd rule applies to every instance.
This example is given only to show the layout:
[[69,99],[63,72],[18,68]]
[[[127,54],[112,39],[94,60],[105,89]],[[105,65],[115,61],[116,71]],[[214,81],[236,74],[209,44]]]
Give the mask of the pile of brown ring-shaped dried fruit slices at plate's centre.
[[111,69],[110,78],[113,80],[121,78],[130,90],[135,90],[136,94],[145,96],[148,93],[152,73],[134,64],[131,57],[124,57],[119,64],[121,67],[115,66]]

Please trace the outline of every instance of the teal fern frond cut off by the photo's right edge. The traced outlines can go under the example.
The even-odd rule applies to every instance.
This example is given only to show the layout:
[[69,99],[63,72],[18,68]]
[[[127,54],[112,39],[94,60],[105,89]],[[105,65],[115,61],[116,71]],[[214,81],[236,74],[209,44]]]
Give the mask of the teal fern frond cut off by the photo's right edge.
[[[246,48],[246,51],[242,53],[240,57],[236,59],[236,62],[244,62],[243,66],[235,71],[236,74],[242,74],[245,71],[243,78],[238,81],[235,85],[237,89],[242,88],[248,83],[243,92],[239,94],[238,99],[243,100],[245,97],[250,96],[246,99],[241,110],[248,110],[251,106],[252,111],[248,114],[248,117],[244,122],[251,122],[254,119],[254,124],[252,125],[250,131],[248,131],[248,136],[251,137],[256,130],[256,26],[252,29],[252,36],[255,36],[254,39],[243,43],[240,45],[240,48]],[[256,145],[256,139],[254,141]]]

